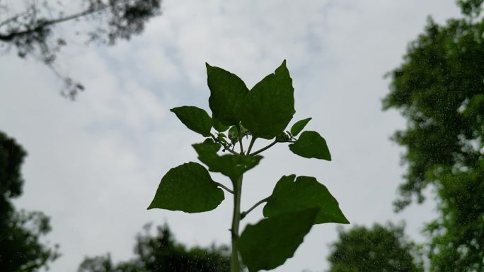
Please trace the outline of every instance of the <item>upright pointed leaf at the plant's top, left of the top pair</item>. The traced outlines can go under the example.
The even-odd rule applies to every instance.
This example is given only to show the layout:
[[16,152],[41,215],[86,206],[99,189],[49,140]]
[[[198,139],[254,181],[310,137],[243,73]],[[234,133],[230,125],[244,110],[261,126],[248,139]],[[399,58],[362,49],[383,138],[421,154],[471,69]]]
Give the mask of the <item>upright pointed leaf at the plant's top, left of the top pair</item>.
[[238,124],[243,100],[248,93],[246,83],[234,73],[209,64],[206,66],[209,105],[214,118],[225,126]]

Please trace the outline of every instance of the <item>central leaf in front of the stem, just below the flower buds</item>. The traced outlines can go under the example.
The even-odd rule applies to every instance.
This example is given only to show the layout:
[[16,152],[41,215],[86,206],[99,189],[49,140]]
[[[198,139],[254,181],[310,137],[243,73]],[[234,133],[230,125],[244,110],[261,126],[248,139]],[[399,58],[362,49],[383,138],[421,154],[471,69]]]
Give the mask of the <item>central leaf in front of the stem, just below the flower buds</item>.
[[230,177],[235,181],[243,175],[244,172],[258,165],[262,156],[243,156],[243,155],[218,155],[220,149],[219,143],[214,143],[212,139],[207,139],[203,143],[192,145],[197,151],[198,159],[209,167],[212,172],[219,172],[222,175]]

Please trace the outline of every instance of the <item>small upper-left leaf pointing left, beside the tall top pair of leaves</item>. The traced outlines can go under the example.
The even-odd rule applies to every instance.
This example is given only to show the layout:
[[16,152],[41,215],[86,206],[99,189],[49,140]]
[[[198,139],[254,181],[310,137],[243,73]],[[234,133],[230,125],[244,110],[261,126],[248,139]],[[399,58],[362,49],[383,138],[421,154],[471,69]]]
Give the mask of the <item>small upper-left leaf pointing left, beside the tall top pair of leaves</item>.
[[174,112],[176,117],[178,117],[178,119],[180,119],[180,121],[185,124],[188,129],[191,129],[198,134],[202,134],[205,137],[210,136],[210,129],[212,129],[212,118],[209,117],[207,112],[200,109],[200,107],[174,107],[171,109],[171,112]]

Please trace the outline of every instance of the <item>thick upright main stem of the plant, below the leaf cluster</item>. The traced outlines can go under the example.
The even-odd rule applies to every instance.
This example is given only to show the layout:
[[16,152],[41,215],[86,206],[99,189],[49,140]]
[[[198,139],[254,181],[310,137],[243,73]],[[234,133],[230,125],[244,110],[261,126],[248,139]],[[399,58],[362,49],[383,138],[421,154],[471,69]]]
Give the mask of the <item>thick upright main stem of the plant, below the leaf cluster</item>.
[[239,177],[234,181],[234,213],[232,215],[232,258],[230,263],[231,272],[239,272],[240,264],[238,261],[238,225],[241,222],[241,193],[242,193],[242,178]]

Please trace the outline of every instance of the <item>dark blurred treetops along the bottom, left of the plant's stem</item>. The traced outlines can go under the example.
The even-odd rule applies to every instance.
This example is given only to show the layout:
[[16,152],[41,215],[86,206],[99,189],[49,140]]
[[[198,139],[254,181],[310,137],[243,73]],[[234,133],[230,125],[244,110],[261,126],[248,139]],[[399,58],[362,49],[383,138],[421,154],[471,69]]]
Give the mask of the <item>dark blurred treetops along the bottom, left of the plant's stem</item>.
[[137,235],[134,253],[129,261],[113,264],[110,254],[86,257],[78,272],[226,272],[230,271],[229,247],[188,249],[175,242],[168,225],[157,227],[151,234],[151,225]]

